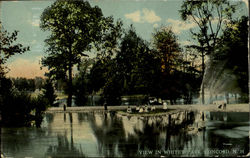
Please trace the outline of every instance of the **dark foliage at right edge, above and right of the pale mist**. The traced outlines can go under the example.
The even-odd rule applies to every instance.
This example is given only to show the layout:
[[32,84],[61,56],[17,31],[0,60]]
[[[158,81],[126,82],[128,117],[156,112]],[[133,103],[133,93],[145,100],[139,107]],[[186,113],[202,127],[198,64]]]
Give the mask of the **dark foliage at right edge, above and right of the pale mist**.
[[[245,102],[248,101],[248,17],[231,21],[225,29],[216,51],[212,54],[213,65],[225,62],[224,70],[235,75],[237,86]],[[229,89],[226,89],[229,91]]]

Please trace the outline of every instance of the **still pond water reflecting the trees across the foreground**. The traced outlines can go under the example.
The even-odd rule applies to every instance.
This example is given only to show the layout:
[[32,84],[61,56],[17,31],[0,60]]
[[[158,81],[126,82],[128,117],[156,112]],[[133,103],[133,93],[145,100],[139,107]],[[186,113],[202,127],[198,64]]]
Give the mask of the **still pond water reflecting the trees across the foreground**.
[[169,118],[114,112],[47,113],[41,128],[2,128],[1,152],[6,157],[34,158],[248,153],[249,113],[203,114],[183,112]]

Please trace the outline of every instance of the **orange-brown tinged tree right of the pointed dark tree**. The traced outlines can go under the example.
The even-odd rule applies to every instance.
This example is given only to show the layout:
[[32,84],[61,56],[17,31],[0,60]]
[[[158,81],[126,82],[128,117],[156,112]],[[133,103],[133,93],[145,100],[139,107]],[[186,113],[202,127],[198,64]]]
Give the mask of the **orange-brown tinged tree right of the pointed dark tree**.
[[170,27],[162,27],[153,34],[153,45],[161,60],[159,81],[160,97],[170,99],[174,104],[180,96],[180,68],[182,63],[181,48],[177,36]]

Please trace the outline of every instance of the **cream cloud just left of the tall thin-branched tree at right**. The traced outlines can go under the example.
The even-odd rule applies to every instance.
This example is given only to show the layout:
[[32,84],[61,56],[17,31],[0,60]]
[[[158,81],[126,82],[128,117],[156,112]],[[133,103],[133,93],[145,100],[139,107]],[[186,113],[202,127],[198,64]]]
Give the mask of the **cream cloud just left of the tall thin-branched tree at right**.
[[175,19],[167,19],[167,23],[172,25],[172,30],[176,34],[180,34],[182,31],[189,30],[197,25],[193,22],[183,22]]

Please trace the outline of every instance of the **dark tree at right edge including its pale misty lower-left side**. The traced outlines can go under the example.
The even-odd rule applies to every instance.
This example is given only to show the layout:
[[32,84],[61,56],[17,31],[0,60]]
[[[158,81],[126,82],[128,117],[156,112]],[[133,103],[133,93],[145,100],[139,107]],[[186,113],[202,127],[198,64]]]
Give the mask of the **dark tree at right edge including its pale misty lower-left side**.
[[[212,60],[204,80],[212,93],[238,93],[241,94],[243,102],[247,102],[248,98],[247,22],[247,17],[242,16],[228,23],[210,57]],[[214,77],[212,82],[210,77]],[[227,85],[222,84],[222,81]]]

